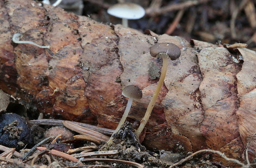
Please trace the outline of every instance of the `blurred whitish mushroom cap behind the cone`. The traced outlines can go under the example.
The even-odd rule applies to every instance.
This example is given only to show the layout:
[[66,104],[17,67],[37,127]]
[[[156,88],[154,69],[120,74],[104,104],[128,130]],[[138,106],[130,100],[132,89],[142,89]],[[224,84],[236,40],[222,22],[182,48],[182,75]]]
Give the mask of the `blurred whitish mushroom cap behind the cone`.
[[145,15],[145,9],[135,3],[117,3],[109,7],[107,13],[118,18],[139,19]]

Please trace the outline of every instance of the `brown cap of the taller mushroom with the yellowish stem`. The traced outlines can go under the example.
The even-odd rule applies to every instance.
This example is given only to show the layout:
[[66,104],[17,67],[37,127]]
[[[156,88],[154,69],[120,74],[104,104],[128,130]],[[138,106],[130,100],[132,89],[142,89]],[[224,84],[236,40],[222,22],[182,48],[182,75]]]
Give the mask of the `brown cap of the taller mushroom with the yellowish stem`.
[[156,43],[150,47],[152,57],[156,57],[159,53],[166,53],[171,60],[176,60],[180,57],[180,48],[172,43]]

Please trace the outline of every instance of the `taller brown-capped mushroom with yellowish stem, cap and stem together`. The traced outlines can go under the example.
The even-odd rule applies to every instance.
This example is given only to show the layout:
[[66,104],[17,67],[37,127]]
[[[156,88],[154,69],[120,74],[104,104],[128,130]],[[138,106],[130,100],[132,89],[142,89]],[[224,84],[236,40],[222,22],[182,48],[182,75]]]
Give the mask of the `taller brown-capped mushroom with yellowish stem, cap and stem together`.
[[163,59],[163,66],[162,66],[162,72],[161,72],[159,82],[156,86],[156,90],[154,91],[152,99],[149,102],[145,116],[142,118],[140,122],[140,126],[136,131],[136,135],[138,137],[140,136],[140,133],[144,129],[145,125],[147,124],[147,121],[149,120],[152,109],[156,103],[156,98],[158,97],[159,92],[164,84],[164,78],[166,76],[166,71],[168,67],[168,58],[170,57],[171,60],[178,59],[180,57],[180,48],[172,43],[157,43],[150,48],[150,55],[152,57],[156,57],[156,56],[161,57]]

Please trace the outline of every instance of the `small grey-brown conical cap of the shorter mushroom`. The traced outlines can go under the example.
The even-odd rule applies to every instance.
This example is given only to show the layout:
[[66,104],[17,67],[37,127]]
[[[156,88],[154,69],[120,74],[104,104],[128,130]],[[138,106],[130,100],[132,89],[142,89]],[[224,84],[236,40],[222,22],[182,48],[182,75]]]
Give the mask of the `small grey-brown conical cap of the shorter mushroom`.
[[142,91],[139,87],[135,85],[129,85],[123,88],[123,96],[128,97],[129,99],[141,99]]

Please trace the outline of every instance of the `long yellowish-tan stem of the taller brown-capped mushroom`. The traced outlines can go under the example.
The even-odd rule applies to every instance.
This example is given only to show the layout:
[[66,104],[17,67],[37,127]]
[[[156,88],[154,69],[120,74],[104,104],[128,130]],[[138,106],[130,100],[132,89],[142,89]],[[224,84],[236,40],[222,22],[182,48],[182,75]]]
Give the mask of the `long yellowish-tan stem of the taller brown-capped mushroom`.
[[163,58],[163,66],[162,66],[161,76],[160,76],[160,79],[159,79],[158,84],[156,86],[156,90],[154,91],[154,94],[152,96],[152,99],[149,102],[149,105],[147,106],[147,111],[146,111],[144,117],[142,118],[142,120],[140,121],[140,126],[136,131],[137,137],[140,136],[140,133],[144,129],[145,125],[147,124],[147,121],[149,120],[152,109],[154,108],[154,105],[156,103],[156,99],[157,99],[157,97],[159,95],[159,92],[160,92],[160,90],[161,90],[161,88],[164,84],[164,78],[165,78],[166,72],[167,72],[168,57],[169,56],[166,53],[159,53],[159,56]]

